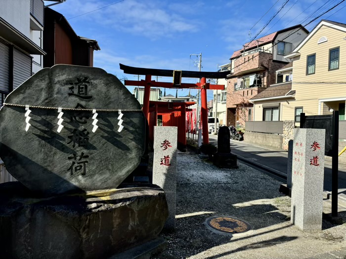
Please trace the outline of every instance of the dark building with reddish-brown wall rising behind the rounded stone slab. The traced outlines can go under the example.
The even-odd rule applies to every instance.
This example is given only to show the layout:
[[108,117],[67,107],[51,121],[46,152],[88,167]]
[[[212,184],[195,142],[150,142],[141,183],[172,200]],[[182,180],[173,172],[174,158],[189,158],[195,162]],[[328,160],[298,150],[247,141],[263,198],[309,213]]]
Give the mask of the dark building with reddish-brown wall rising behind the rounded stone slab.
[[93,66],[93,51],[100,50],[94,39],[78,36],[66,18],[50,8],[44,8],[43,67],[56,64]]

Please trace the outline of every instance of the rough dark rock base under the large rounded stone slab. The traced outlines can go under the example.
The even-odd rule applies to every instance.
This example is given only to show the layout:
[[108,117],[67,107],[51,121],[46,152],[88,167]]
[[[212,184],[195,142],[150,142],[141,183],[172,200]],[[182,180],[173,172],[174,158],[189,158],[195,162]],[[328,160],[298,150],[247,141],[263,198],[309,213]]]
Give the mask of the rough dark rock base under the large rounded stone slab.
[[19,182],[1,184],[1,258],[106,259],[157,239],[167,217],[157,185],[42,198]]

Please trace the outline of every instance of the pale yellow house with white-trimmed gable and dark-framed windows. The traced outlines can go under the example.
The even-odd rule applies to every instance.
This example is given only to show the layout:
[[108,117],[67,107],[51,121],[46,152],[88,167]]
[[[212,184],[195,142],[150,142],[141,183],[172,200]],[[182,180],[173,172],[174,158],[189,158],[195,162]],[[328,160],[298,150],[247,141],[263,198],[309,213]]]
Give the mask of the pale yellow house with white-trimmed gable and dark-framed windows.
[[[308,116],[331,114],[333,110],[339,111],[340,120],[345,120],[346,24],[320,21],[285,58],[293,61],[294,74],[289,77],[292,89],[279,83],[266,89],[267,96],[263,95],[264,91],[263,96],[251,99],[255,104],[255,121],[294,120],[299,126],[301,112]],[[287,71],[278,72],[277,79],[281,81],[283,74],[285,81]],[[275,88],[285,89],[270,95],[269,90],[277,92],[273,91]]]

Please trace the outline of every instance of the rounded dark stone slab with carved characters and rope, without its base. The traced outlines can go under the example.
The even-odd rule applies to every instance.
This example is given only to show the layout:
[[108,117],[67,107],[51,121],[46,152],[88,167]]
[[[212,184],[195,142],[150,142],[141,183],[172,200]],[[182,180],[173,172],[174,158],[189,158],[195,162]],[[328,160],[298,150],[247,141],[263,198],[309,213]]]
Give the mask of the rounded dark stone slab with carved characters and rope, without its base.
[[97,68],[39,71],[7,96],[0,122],[7,171],[46,195],[116,188],[144,152],[140,104]]

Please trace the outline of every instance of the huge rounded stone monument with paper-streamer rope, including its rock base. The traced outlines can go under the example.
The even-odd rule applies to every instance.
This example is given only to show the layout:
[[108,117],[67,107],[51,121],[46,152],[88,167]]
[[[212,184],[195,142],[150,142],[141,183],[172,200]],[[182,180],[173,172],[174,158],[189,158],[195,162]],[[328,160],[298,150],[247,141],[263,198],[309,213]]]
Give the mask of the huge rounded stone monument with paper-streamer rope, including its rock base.
[[1,256],[102,259],[157,239],[164,191],[120,185],[144,153],[145,117],[116,76],[43,69],[7,96],[0,132],[19,181],[0,185]]

